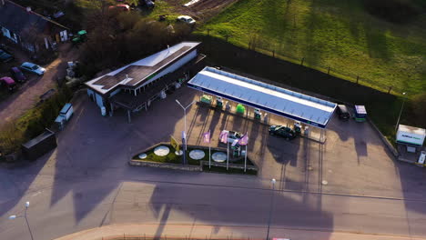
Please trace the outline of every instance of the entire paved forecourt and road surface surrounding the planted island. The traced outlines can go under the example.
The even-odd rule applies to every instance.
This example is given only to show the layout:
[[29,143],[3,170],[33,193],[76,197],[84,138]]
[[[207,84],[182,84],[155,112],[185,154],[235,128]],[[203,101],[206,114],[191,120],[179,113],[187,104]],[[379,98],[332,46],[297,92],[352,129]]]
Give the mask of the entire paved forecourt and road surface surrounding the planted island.
[[[288,142],[269,136],[265,125],[193,105],[188,144],[202,144],[208,129],[212,145],[223,129],[248,132],[258,176],[127,165],[148,145],[178,137],[184,118],[175,99],[187,105],[196,98],[198,92],[180,89],[127,124],[124,111],[103,117],[80,95],[54,151],[25,167],[0,168],[0,235],[29,239],[24,219],[6,217],[22,214],[30,201],[35,239],[132,223],[160,224],[156,235],[167,233],[167,225],[188,226],[181,237],[214,225],[209,236],[224,238],[223,228],[243,226],[232,234],[243,238],[251,236],[246,228],[266,230],[270,207],[272,233],[320,230],[321,239],[332,232],[426,236],[425,172],[394,162],[366,123],[333,119],[324,145],[303,138]],[[274,192],[271,178],[277,179]]]

